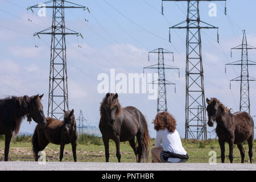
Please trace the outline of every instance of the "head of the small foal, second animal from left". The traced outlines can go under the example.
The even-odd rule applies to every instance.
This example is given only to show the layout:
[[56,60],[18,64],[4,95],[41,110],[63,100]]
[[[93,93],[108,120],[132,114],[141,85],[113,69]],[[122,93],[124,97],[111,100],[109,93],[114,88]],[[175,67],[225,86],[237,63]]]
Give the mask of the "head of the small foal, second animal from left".
[[76,119],[75,119],[75,114],[74,110],[64,110],[64,126],[63,130],[65,133],[69,133],[70,131],[75,131],[76,129]]

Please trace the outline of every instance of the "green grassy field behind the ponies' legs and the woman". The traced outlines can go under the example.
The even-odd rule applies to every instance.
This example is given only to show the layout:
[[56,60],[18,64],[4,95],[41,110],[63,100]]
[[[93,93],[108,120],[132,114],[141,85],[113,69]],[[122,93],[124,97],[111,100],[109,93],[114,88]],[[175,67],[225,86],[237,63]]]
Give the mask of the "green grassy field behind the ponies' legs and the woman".
[[[216,139],[210,139],[208,141],[200,141],[200,140],[185,140],[181,139],[183,143],[183,147],[188,152],[189,155],[189,163],[208,163],[209,160],[209,151],[217,152],[217,163],[221,162],[220,159],[220,146],[218,145],[218,141]],[[115,157],[115,144],[112,140],[109,143],[110,147],[110,158],[109,162],[117,162],[117,158]],[[150,148],[154,147],[154,139],[151,139]],[[2,161],[4,158],[4,148],[5,141],[4,136],[0,137],[0,160]],[[46,158],[47,161],[59,161],[59,148],[55,144],[48,144],[46,149]],[[229,162],[228,155],[228,144],[225,146],[225,162]],[[246,151],[245,154],[245,163],[249,163],[248,156],[248,145],[244,144],[244,148]],[[78,144],[77,144],[77,161],[78,162],[105,162],[105,149],[104,144],[101,138],[94,137],[92,135],[80,135]],[[256,140],[254,140],[253,146],[253,161],[256,162]],[[130,147],[129,142],[121,143],[121,162],[136,162],[135,155],[133,153],[133,149]],[[10,161],[34,161],[32,154],[32,144],[31,144],[31,136],[19,135],[16,138],[13,138],[10,146],[9,153]],[[150,154],[150,162],[151,162],[151,154]],[[65,162],[73,162],[72,149],[71,144],[65,146],[64,150],[64,158]],[[237,146],[234,146],[234,163],[240,163],[241,156]]]

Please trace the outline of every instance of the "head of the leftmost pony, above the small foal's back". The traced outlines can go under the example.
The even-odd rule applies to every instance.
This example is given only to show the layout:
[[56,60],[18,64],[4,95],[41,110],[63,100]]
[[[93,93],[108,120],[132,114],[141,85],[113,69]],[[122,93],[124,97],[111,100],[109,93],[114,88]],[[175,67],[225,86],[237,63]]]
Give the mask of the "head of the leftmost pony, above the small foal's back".
[[37,94],[36,96],[23,96],[22,102],[26,103],[28,107],[28,114],[27,114],[27,119],[28,121],[31,121],[31,118],[38,123],[40,127],[45,127],[47,124],[46,117],[44,115],[44,110],[43,110],[43,105],[41,103],[41,99],[44,96],[42,94],[39,96]]

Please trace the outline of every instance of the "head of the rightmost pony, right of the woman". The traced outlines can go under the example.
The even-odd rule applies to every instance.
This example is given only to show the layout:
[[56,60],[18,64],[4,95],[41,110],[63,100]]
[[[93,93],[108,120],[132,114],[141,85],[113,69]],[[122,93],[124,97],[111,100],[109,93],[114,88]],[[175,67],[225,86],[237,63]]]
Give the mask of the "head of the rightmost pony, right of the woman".
[[208,126],[212,127],[214,121],[218,118],[220,113],[229,112],[228,108],[225,107],[217,98],[207,98],[207,113],[208,113]]

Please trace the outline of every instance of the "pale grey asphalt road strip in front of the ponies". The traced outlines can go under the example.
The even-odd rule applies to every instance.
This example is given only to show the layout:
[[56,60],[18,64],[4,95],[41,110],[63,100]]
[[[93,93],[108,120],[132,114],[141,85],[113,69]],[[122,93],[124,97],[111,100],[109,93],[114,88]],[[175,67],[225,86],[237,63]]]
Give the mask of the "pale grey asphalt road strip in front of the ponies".
[[256,164],[0,162],[1,171],[256,171]]

